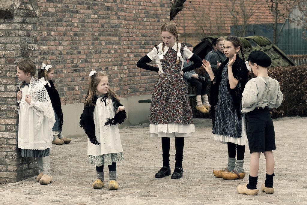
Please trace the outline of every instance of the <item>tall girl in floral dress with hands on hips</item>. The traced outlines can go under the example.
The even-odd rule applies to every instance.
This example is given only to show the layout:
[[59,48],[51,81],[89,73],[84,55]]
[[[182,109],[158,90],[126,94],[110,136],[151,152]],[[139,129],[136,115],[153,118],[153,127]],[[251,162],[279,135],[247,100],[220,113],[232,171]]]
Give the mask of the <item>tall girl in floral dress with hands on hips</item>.
[[[201,59],[184,43],[179,43],[178,30],[173,22],[167,22],[161,27],[161,35],[163,43],[155,45],[150,53],[138,61],[137,66],[159,74],[150,105],[150,134],[161,137],[162,141],[163,166],[155,177],[170,175],[170,138],[175,137],[176,163],[171,178],[180,179],[183,172],[184,137],[195,132],[188,86],[182,75],[200,67]],[[185,59],[194,61],[194,64],[183,69]],[[147,65],[153,60],[158,67]]]

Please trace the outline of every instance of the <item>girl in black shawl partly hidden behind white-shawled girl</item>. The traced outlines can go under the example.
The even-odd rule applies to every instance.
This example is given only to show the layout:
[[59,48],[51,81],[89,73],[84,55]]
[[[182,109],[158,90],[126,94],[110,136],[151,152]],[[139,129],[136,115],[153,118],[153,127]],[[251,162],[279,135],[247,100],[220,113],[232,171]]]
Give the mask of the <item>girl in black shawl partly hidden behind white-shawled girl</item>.
[[[57,92],[54,84],[52,82],[54,74],[54,69],[52,65],[41,64],[41,69],[38,72],[38,78],[45,85],[46,90],[48,91],[52,108],[54,110],[54,116],[56,123],[52,128],[53,141],[52,144],[69,144],[71,139],[66,138],[62,135],[63,127],[63,113],[59,93]],[[58,137],[58,138],[57,138]]]

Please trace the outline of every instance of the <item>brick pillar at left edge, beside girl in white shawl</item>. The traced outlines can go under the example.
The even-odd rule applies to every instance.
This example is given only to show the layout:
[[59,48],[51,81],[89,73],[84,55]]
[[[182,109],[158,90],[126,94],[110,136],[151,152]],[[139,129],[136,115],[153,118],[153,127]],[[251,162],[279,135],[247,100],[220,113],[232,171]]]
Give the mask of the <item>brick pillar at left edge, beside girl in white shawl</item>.
[[36,1],[0,0],[0,184],[14,183],[38,172],[36,162],[21,158],[17,148],[16,65],[24,59],[37,63],[39,15]]

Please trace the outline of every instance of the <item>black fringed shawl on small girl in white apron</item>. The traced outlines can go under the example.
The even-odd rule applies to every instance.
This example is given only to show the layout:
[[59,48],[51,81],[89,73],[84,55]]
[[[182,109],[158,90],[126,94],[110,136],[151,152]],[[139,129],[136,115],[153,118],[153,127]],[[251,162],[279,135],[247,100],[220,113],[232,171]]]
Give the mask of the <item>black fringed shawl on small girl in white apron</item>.
[[[95,96],[93,98],[93,104],[96,104],[98,97]],[[115,101],[119,106],[122,106],[120,102],[116,98],[112,98],[112,101]],[[87,134],[88,139],[91,141],[91,143],[95,145],[100,145],[100,143],[96,139],[95,135],[95,124],[94,124],[94,109],[95,106],[86,106],[83,109],[83,113],[80,117],[80,127],[82,127]],[[107,122],[104,125],[117,125],[122,124],[125,119],[127,119],[126,111],[119,111],[112,119],[107,118]]]

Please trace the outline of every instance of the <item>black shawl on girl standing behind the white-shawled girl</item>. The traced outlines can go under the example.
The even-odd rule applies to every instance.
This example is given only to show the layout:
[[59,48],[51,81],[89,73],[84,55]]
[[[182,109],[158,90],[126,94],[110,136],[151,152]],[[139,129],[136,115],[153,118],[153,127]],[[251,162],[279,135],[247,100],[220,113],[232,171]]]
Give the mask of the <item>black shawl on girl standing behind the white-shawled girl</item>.
[[63,112],[62,112],[62,106],[61,106],[61,99],[59,96],[59,93],[57,92],[56,88],[54,87],[54,84],[52,80],[49,80],[49,83],[51,87],[49,87],[48,83],[45,85],[45,88],[49,94],[52,107],[54,108],[54,111],[56,112],[56,115],[60,118],[60,128],[62,130],[63,126]]

